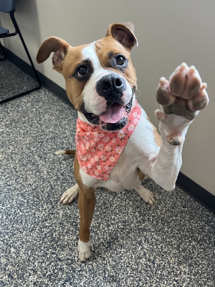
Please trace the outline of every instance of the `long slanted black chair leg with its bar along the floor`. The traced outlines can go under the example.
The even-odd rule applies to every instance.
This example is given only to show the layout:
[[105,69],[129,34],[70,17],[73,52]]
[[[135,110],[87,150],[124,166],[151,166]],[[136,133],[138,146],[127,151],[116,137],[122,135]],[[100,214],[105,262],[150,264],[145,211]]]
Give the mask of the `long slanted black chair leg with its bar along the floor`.
[[21,40],[21,42],[22,42],[22,44],[23,44],[23,46],[24,46],[24,49],[25,49],[26,54],[27,54],[27,56],[28,56],[28,59],[29,59],[29,61],[30,61],[30,63],[31,63],[32,69],[33,69],[33,71],[34,71],[34,74],[35,74],[36,79],[37,79],[37,82],[38,82],[38,87],[33,88],[32,90],[28,90],[28,91],[26,91],[26,92],[23,92],[23,93],[21,93],[21,94],[18,94],[18,95],[16,95],[16,96],[7,98],[7,99],[5,99],[5,100],[2,100],[2,101],[0,101],[0,104],[3,104],[3,103],[5,103],[5,102],[8,102],[8,101],[13,100],[13,99],[15,99],[15,98],[24,96],[24,95],[26,95],[26,94],[28,94],[28,93],[30,93],[30,92],[36,91],[36,90],[38,90],[38,89],[41,88],[40,78],[39,78],[38,73],[37,73],[37,71],[36,71],[36,69],[35,69],[35,67],[34,67],[34,63],[32,62],[31,56],[30,56],[30,54],[29,54],[29,52],[28,52],[28,49],[27,49],[27,47],[26,47],[25,41],[24,41],[24,39],[23,39],[23,37],[22,37],[22,34],[21,34],[20,30],[19,30],[19,26],[17,25],[17,22],[16,22],[16,20],[15,20],[15,18],[14,18],[14,11],[11,11],[11,12],[10,12],[10,18],[11,18],[11,20],[12,20],[12,22],[13,22],[13,26],[15,27],[15,29],[16,29],[16,31],[17,31],[17,34],[19,35],[19,38],[20,38],[20,40]]

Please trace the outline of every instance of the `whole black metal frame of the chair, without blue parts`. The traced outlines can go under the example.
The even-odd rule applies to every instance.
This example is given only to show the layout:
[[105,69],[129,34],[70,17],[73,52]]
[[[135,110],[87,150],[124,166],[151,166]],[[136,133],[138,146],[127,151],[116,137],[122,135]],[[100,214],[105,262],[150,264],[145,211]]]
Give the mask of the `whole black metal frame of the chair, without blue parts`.
[[[13,99],[15,99],[15,98],[24,96],[24,95],[26,95],[26,94],[28,94],[28,93],[30,93],[30,92],[36,91],[36,90],[38,90],[38,89],[41,88],[40,78],[39,78],[38,73],[37,73],[37,71],[36,71],[36,69],[35,69],[35,67],[34,67],[34,64],[33,64],[33,62],[32,62],[31,56],[30,56],[30,54],[29,54],[29,52],[28,52],[28,49],[27,49],[27,47],[26,47],[26,44],[25,44],[24,39],[23,39],[23,37],[22,37],[22,34],[21,34],[21,32],[20,32],[20,30],[19,30],[19,27],[18,27],[18,25],[17,25],[17,22],[16,22],[16,20],[15,20],[15,18],[14,18],[14,11],[10,11],[10,18],[11,18],[11,21],[13,22],[13,26],[14,26],[14,28],[15,28],[15,32],[13,32],[13,33],[7,33],[7,34],[1,34],[1,35],[0,35],[0,39],[1,39],[1,38],[6,38],[6,37],[15,36],[15,35],[17,35],[17,34],[19,35],[19,38],[20,38],[20,40],[21,40],[21,42],[22,42],[22,44],[23,44],[23,46],[24,46],[24,49],[25,49],[26,54],[27,54],[27,56],[28,56],[28,59],[29,59],[29,61],[30,61],[30,63],[31,63],[32,69],[33,69],[33,71],[34,71],[34,74],[35,74],[35,76],[36,76],[36,79],[37,79],[37,82],[38,82],[39,86],[36,87],[36,88],[33,88],[32,90],[28,90],[28,91],[23,92],[23,93],[21,93],[21,94],[18,94],[18,95],[16,95],[16,96],[7,98],[7,99],[5,99],[5,100],[2,100],[2,101],[0,101],[0,104],[3,104],[3,103],[5,103],[5,102],[8,102],[8,101],[13,100]],[[4,54],[4,57],[0,59],[0,61],[2,61],[2,60],[5,60],[5,59],[6,59],[7,54],[6,54],[5,50],[4,50],[4,47],[2,46],[1,42],[0,42],[0,48],[1,48],[2,52],[3,52],[3,54]]]

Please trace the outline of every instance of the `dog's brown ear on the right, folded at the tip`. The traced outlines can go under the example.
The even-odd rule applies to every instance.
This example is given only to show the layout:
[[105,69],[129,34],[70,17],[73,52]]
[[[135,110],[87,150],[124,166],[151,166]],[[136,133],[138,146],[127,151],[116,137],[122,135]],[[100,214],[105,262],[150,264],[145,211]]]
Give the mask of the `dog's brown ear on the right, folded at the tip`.
[[134,35],[134,25],[131,22],[111,24],[107,29],[107,36],[112,36],[129,50],[135,45],[138,47],[138,42]]

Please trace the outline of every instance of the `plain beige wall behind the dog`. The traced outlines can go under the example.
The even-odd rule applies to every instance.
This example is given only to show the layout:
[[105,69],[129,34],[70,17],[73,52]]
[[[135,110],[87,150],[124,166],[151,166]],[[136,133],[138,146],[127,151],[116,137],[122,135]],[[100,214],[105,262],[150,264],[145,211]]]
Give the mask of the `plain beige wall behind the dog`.
[[[158,127],[155,90],[161,76],[177,65],[195,65],[208,84],[209,106],[188,129],[181,172],[215,195],[215,1],[209,0],[17,0],[15,16],[36,69],[61,87],[62,75],[52,70],[51,59],[38,65],[36,53],[43,40],[58,36],[73,46],[105,36],[114,22],[135,26],[139,47],[132,51],[138,77],[138,101]],[[13,27],[1,13],[2,26]],[[5,46],[27,61],[18,36]]]

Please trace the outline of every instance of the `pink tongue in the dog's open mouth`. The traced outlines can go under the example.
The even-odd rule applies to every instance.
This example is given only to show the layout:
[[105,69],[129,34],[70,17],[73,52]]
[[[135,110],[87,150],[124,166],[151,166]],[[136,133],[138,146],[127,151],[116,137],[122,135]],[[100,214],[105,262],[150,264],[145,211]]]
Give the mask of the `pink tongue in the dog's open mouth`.
[[99,116],[99,119],[105,123],[117,123],[122,119],[123,115],[123,106],[118,103],[114,103]]

